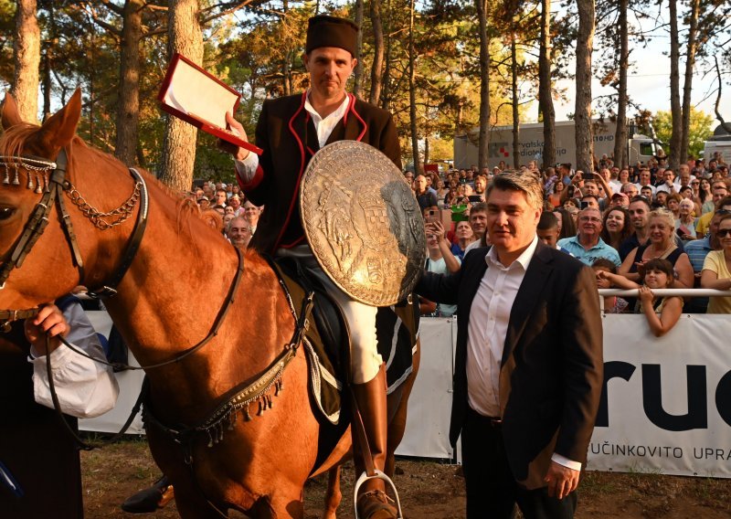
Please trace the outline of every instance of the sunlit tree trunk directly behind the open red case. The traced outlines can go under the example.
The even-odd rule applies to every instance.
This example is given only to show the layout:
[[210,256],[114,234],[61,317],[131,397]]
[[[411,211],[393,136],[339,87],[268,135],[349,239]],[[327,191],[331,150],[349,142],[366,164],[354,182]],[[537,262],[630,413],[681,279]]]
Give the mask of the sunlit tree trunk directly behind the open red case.
[[[169,54],[180,52],[197,65],[203,61],[203,33],[198,22],[197,0],[169,0]],[[195,126],[169,116],[165,126],[160,178],[176,190],[190,189],[196,162]]]

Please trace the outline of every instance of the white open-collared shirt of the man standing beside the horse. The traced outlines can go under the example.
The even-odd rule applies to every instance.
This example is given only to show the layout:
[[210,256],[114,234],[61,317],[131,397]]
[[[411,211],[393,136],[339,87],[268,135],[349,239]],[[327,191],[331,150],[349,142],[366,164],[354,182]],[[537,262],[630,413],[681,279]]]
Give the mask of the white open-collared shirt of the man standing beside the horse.
[[[505,267],[491,248],[485,256],[487,270],[475,293],[467,325],[467,401],[486,417],[500,417],[500,365],[503,362],[505,335],[515,297],[525,271],[538,247],[535,236],[509,267]],[[581,470],[581,463],[554,453],[551,460],[569,469]]]

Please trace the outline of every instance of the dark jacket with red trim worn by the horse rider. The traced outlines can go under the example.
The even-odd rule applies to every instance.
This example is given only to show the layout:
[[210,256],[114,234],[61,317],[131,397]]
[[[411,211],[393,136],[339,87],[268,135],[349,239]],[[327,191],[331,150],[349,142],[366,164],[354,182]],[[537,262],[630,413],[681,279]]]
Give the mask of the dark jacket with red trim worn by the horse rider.
[[[264,150],[259,168],[241,190],[257,206],[266,206],[251,246],[273,253],[304,242],[300,221],[300,181],[307,164],[319,149],[317,132],[305,94],[264,101],[256,129],[256,144]],[[350,104],[327,143],[361,141],[386,154],[401,168],[401,151],[391,114],[348,95]]]

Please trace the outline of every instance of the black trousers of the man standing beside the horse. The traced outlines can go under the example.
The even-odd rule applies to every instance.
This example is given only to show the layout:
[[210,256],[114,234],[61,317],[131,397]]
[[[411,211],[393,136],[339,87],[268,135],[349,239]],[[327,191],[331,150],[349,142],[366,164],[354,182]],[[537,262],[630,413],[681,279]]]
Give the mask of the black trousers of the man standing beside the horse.
[[562,500],[546,488],[526,490],[515,482],[503,431],[470,409],[462,429],[462,463],[467,487],[467,519],[512,519],[517,504],[525,519],[572,519],[576,492]]

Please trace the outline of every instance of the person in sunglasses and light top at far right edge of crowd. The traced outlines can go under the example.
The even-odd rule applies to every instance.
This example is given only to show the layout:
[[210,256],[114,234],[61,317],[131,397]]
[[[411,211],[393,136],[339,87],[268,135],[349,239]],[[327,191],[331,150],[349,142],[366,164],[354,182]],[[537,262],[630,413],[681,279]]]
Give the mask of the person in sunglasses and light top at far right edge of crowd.
[[[723,211],[725,214],[718,220],[718,229],[715,231],[721,249],[712,250],[705,257],[701,286],[705,289],[729,291],[731,290],[731,211]],[[721,210],[716,211],[720,212]],[[731,297],[710,298],[708,313],[731,313]]]

